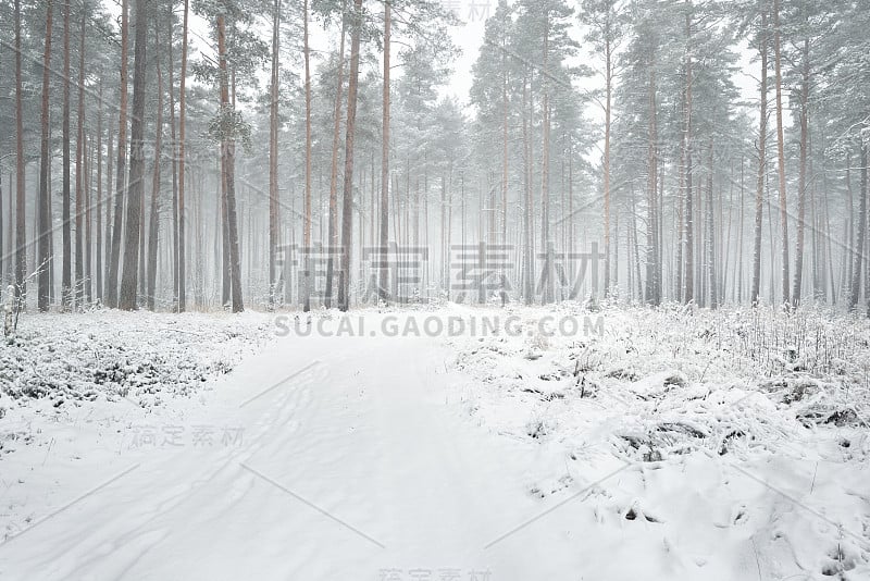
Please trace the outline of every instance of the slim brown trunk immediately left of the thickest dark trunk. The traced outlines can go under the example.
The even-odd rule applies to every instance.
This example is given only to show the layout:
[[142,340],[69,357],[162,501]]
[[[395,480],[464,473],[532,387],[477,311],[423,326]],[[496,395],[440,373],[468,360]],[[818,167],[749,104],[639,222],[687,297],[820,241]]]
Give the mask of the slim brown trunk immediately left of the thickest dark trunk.
[[121,85],[115,162],[115,208],[112,220],[112,248],[105,276],[105,304],[117,307],[117,271],[121,267],[121,228],[124,220],[124,175],[127,171],[127,52],[129,47],[128,0],[121,0]]

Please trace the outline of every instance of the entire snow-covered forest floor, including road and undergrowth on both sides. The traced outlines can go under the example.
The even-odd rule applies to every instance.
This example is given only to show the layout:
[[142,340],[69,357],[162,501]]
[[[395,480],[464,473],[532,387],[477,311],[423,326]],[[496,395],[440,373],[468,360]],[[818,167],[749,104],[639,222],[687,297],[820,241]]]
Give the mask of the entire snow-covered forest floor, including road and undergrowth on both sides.
[[865,320],[275,323],[22,319],[0,579],[870,579]]

